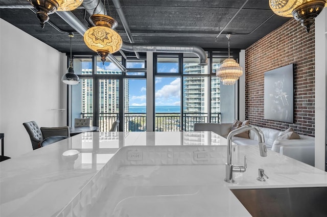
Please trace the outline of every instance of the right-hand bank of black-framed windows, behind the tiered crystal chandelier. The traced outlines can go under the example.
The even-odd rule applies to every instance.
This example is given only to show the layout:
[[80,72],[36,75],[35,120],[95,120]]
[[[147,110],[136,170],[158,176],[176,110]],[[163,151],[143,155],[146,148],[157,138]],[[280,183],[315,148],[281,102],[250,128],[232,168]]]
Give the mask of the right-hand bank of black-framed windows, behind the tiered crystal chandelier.
[[[194,123],[221,122],[221,84],[216,71],[227,56],[221,52],[208,52],[208,56],[209,64],[199,66],[192,53],[155,53],[155,130],[193,131]],[[224,115],[235,118],[235,86],[224,90],[223,97],[229,100],[225,100]]]

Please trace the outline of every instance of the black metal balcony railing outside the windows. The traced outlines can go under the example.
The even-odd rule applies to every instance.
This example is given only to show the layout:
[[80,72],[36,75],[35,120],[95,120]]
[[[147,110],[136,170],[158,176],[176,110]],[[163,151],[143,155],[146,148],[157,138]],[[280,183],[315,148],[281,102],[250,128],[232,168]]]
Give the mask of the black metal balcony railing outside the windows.
[[[91,118],[92,113],[81,113],[82,118]],[[106,132],[111,128],[112,123],[118,120],[118,113],[100,113],[100,131]],[[212,113],[210,122],[220,123],[220,113]],[[125,113],[124,131],[146,131],[146,113]],[[156,113],[155,131],[193,131],[194,123],[208,122],[207,113]],[[122,124],[122,122],[120,123]]]

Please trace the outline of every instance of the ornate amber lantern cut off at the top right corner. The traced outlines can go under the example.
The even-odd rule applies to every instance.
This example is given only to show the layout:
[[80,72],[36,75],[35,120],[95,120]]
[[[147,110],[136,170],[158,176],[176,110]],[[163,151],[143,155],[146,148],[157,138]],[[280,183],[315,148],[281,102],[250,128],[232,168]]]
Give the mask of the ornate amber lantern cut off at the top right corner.
[[327,0],[269,0],[271,10],[283,17],[294,17],[306,28],[307,33],[324,7]]

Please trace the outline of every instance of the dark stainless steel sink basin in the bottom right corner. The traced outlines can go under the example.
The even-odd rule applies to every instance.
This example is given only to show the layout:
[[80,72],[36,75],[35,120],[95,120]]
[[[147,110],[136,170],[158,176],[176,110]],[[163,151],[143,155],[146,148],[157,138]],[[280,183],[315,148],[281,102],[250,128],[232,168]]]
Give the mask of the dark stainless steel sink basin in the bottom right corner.
[[327,216],[327,187],[231,189],[252,216]]

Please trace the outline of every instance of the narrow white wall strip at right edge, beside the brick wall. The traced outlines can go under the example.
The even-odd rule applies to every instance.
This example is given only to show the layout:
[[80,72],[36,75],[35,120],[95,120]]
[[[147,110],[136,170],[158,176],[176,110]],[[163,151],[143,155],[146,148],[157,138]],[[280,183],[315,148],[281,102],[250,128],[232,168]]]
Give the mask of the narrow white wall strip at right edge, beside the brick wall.
[[315,167],[325,170],[327,9],[315,18]]

